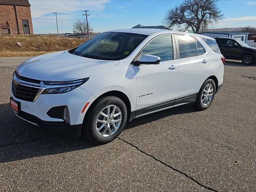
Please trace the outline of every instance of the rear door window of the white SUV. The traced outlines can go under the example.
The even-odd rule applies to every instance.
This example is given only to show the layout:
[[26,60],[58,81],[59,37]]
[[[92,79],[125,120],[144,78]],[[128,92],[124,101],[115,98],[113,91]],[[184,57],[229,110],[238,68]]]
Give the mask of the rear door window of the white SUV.
[[196,40],[187,35],[176,35],[179,44],[180,58],[197,56]]

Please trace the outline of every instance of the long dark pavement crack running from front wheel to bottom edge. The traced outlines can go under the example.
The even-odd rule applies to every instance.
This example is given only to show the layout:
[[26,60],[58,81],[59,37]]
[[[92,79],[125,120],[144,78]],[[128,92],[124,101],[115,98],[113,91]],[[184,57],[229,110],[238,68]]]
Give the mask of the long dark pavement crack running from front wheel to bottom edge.
[[125,142],[126,144],[129,144],[130,146],[136,148],[138,151],[142,152],[143,154],[152,157],[154,160],[160,162],[161,164],[167,166],[168,168],[171,168],[172,170],[174,170],[174,171],[176,171],[176,172],[179,172],[180,174],[186,176],[186,177],[189,178],[190,180],[196,182],[196,183],[197,183],[198,185],[200,185],[201,187],[206,188],[206,189],[208,189],[208,190],[210,190],[210,191],[218,192],[217,190],[215,190],[215,189],[213,189],[213,188],[211,188],[211,187],[208,187],[208,186],[205,186],[204,184],[201,184],[198,180],[192,178],[191,176],[189,176],[188,174],[182,172],[181,170],[178,170],[177,168],[174,168],[173,166],[168,165],[168,164],[166,164],[165,162],[163,162],[163,161],[157,159],[157,158],[154,157],[153,155],[150,155],[150,154],[144,152],[143,150],[141,150],[140,148],[138,148],[136,145],[134,145],[134,144],[132,144],[132,143],[130,143],[130,142],[127,142],[126,140],[123,140],[123,139],[121,139],[121,138],[119,138],[119,137],[117,137],[117,138],[118,138],[119,140]]

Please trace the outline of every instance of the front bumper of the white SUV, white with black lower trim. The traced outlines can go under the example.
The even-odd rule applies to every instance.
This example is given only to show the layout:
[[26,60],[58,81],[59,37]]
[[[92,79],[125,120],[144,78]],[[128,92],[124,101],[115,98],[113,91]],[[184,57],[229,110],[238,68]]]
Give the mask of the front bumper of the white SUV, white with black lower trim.
[[[34,102],[16,98],[11,88],[11,97],[20,103],[19,113],[15,112],[18,117],[41,128],[72,136],[80,136],[86,113],[86,111],[82,113],[82,109],[87,102],[91,104],[95,99],[94,95],[80,87],[62,94],[41,94]],[[47,112],[57,106],[68,107],[68,122],[48,116]]]

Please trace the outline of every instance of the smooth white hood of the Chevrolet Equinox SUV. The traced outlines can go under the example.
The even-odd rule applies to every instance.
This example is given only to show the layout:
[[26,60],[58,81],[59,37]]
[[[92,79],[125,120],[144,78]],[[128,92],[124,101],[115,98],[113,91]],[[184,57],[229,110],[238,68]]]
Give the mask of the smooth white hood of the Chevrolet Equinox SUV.
[[96,60],[60,51],[30,58],[17,67],[20,76],[66,81],[87,78],[94,71],[116,66],[120,61]]

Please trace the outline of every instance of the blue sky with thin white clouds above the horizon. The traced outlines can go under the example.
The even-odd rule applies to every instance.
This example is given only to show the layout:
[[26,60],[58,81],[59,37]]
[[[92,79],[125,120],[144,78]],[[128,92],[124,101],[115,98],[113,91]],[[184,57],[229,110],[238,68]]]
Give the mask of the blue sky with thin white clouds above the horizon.
[[[162,25],[166,11],[182,0],[29,0],[34,33],[56,33],[58,12],[60,33],[72,32],[76,19],[83,19],[83,10],[89,10],[88,20],[94,32],[117,28]],[[256,27],[255,0],[220,0],[218,6],[225,19],[211,28]]]

